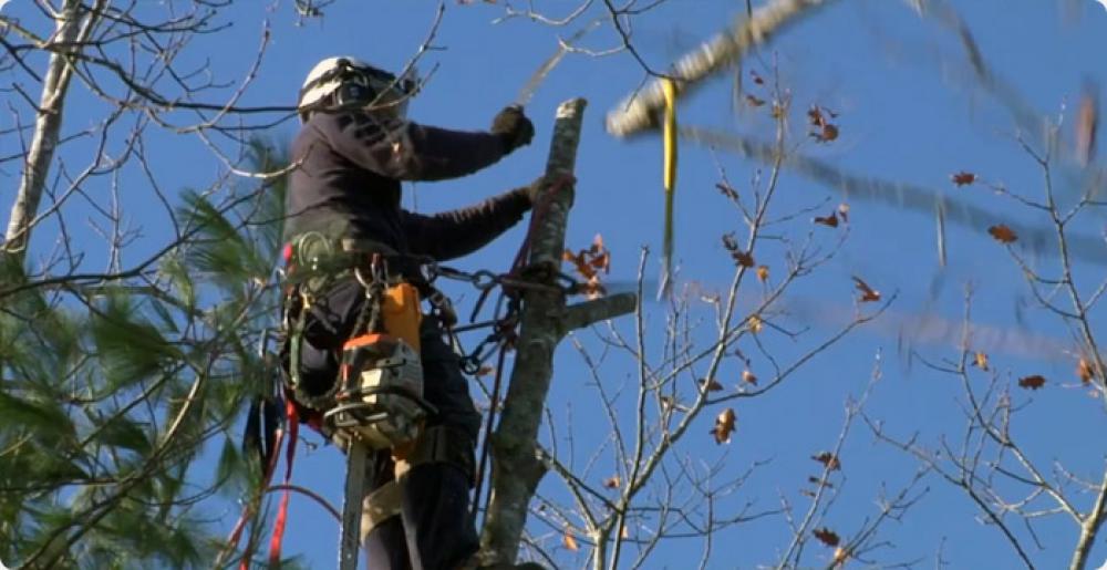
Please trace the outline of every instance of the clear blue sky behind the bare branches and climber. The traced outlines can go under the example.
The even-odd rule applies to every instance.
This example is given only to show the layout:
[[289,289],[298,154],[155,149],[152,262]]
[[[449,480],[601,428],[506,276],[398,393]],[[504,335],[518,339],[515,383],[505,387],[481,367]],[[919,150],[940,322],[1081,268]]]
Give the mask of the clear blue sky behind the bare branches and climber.
[[[15,4],[20,1],[13,0],[9,9],[18,9]],[[562,15],[576,4],[536,3],[554,17]],[[197,61],[214,58],[216,69],[225,79],[236,77],[250,65],[260,41],[260,22],[268,19],[271,42],[258,80],[244,103],[292,104],[304,74],[322,58],[351,54],[384,69],[401,68],[425,38],[435,11],[432,2],[345,0],[325,7],[324,18],[296,25],[289,4],[238,3],[234,9],[236,32],[197,41],[192,48],[192,56]],[[1064,117],[1061,136],[1070,142],[1074,110],[1083,81],[1097,79],[1101,85],[1107,85],[1107,70],[1103,63],[1103,54],[1107,53],[1107,11],[1093,0],[973,0],[958,2],[956,8],[973,30],[993,71],[1017,89],[1043,116]],[[493,115],[516,97],[536,66],[552,53],[556,34],[569,35],[600,9],[593,7],[590,12],[593,15],[558,29],[524,18],[494,23],[504,15],[504,3],[448,3],[433,42],[441,50],[428,53],[420,63],[424,73],[434,68],[433,76],[412,103],[410,116],[417,122],[446,127],[487,127]],[[721,30],[742,10],[742,2],[673,0],[634,20],[634,45],[652,66],[664,70],[676,56]],[[607,23],[581,43],[589,49],[606,50],[618,45],[618,40]],[[834,3],[774,40],[755,60],[747,60],[746,69],[768,76],[772,72],[766,64],[773,61],[778,62],[780,80],[794,97],[793,127],[795,141],[801,143],[800,153],[856,174],[923,185],[1013,220],[1045,221],[979,185],[958,188],[950,183],[951,174],[970,170],[1025,195],[1038,197],[1042,189],[1035,165],[1014,142],[1017,125],[994,99],[974,86],[956,38],[932,20],[920,19],[907,2]],[[648,246],[652,251],[660,251],[661,143],[655,136],[629,143],[614,139],[604,132],[602,120],[642,79],[642,70],[625,52],[603,58],[570,54],[539,87],[527,107],[537,127],[534,145],[474,176],[418,185],[415,189],[418,209],[434,211],[464,205],[535,178],[544,168],[556,105],[566,99],[582,96],[589,101],[589,107],[578,159],[577,201],[568,245],[586,247],[594,234],[601,232],[612,250],[612,279],[632,279],[640,248]],[[746,86],[753,87],[748,80]],[[765,110],[746,108],[735,114],[730,90],[727,77],[716,79],[708,87],[682,102],[681,122],[736,129],[762,138],[769,136],[772,124]],[[810,104],[839,113],[837,123],[841,135],[834,144],[804,141],[803,110]],[[79,128],[82,120],[91,120],[101,111],[91,104],[81,108],[80,101],[76,105],[75,116],[86,114],[86,117],[70,118],[66,128]],[[280,125],[273,129],[273,137],[290,139],[296,126],[292,122]],[[1038,141],[1039,134],[1031,132],[1027,137]],[[177,187],[204,185],[219,168],[193,136],[169,136],[163,144],[165,156],[172,152],[174,159],[166,159],[159,167],[172,173],[169,176]],[[680,278],[682,282],[701,282],[708,290],[722,289],[730,280],[733,265],[720,238],[727,231],[743,235],[744,228],[736,211],[714,189],[720,180],[718,166],[725,168],[735,186],[748,189],[754,172],[762,165],[725,153],[713,155],[687,144],[681,152],[676,199]],[[1073,196],[1070,189],[1084,179],[1068,157],[1058,160],[1056,174],[1062,194],[1069,197]],[[974,321],[1004,329],[1018,328],[1014,307],[1020,299],[1027,300],[1025,287],[1004,249],[987,237],[985,227],[948,226],[949,263],[942,273],[939,294],[930,302],[939,271],[931,211],[842,199],[830,188],[793,175],[782,178],[779,193],[774,208],[777,215],[818,207],[801,216],[809,218],[842,201],[850,206],[850,236],[840,253],[790,293],[798,307],[814,309],[805,319],[788,324],[795,329],[810,320],[810,331],[798,345],[779,335],[767,335],[769,346],[780,354],[794,353],[798,350],[795,346],[829,334],[835,319],[841,319],[835,314],[848,317],[852,310],[851,299],[856,297],[850,280],[855,274],[863,277],[884,294],[899,294],[890,313],[917,315],[927,312],[954,322],[963,311],[964,286],[972,283],[976,291]],[[152,198],[135,196],[131,199],[134,200],[132,207],[138,208],[132,210],[136,218],[143,217],[143,208],[155,211]],[[406,204],[413,204],[410,195],[405,199]],[[1074,229],[1101,236],[1104,219],[1101,215],[1086,216]],[[831,239],[842,232],[841,228],[813,227],[813,230],[816,239],[825,240],[828,247]],[[793,236],[800,239],[806,231],[803,228]],[[133,253],[135,259],[142,256],[141,248],[154,249],[164,238],[156,226],[145,227],[144,234],[139,249]],[[520,238],[521,227],[461,265],[473,269],[506,269]],[[1048,259],[1042,258],[1043,263]],[[1107,260],[1107,249],[1103,259]],[[757,260],[783,268],[779,255],[758,255]],[[1103,265],[1080,266],[1078,270],[1088,279],[1086,290],[1094,289],[1104,274]],[[656,271],[654,255],[649,276],[652,278]],[[755,291],[751,289],[748,294],[754,296]],[[472,293],[465,296],[469,301],[472,298]],[[467,312],[468,307],[463,300],[463,312]],[[650,328],[659,334],[664,327],[663,309],[658,303],[649,305]],[[1101,310],[1093,318],[1098,324],[1105,322]],[[624,324],[629,325],[629,321]],[[682,453],[705,463],[726,454],[725,465],[732,476],[755,462],[768,462],[767,466],[755,470],[734,496],[725,499],[725,508],[737,509],[752,502],[753,510],[773,509],[785,497],[797,510],[803,510],[805,497],[798,491],[818,467],[809,456],[834,445],[841,426],[842,403],[846,397],[861,392],[878,353],[882,354],[883,380],[876,387],[867,413],[886,421],[890,431],[904,437],[918,433],[920,441],[935,444],[944,434],[951,442],[960,442],[964,422],[959,385],[954,379],[929,372],[918,362],[908,365],[898,353],[899,324],[897,321],[882,323],[882,333],[862,330],[816,359],[780,388],[764,397],[739,402],[735,406],[738,429],[728,445],[716,446],[711,441],[707,432],[714,412],[704,414],[702,425],[693,428],[703,435],[692,434]],[[910,329],[906,331],[908,338]],[[1066,329],[1041,310],[1027,309],[1027,327],[1020,330],[1047,335],[1061,343],[1069,339]],[[591,334],[581,338],[599,350]],[[948,341],[917,348],[934,360],[954,357],[955,339]],[[1015,434],[1024,438],[1032,456],[1046,469],[1056,459],[1075,473],[1098,480],[1104,469],[1105,445],[1095,434],[1104,433],[1107,422],[1097,401],[1070,387],[1076,383],[1075,361],[1056,351],[1043,355],[1003,343],[981,341],[980,344],[991,355],[993,365],[1002,374],[1010,374],[1012,382],[1028,374],[1043,374],[1049,380],[1046,388],[1039,392],[1013,391],[1016,401],[1026,405]],[[656,342],[654,345],[659,348]],[[633,388],[632,381],[628,380],[632,376],[627,376],[631,370],[628,364],[627,361],[613,363],[604,381],[610,381],[612,387]],[[984,376],[976,380],[983,386]],[[573,418],[572,431],[578,444],[575,459],[580,465],[596,450],[590,445],[594,439],[590,434],[608,429],[598,413],[596,392],[588,386],[589,382],[580,357],[567,345],[562,346],[557,355],[550,406],[562,436],[569,431],[565,419]],[[736,376],[724,381],[727,385],[736,383]],[[571,416],[567,413],[570,408]],[[839,483],[845,484],[845,488],[826,522],[839,533],[849,536],[867,517],[875,515],[880,485],[886,484],[894,491],[913,473],[915,463],[887,446],[877,445],[861,424],[855,425],[841,458],[845,479]],[[590,473],[593,481],[610,475],[610,467],[603,467],[610,465],[610,454],[606,457],[601,454],[600,465]],[[294,483],[311,487],[340,505],[342,467],[333,448],[301,453]],[[554,477],[547,477],[546,485],[546,490],[554,496],[565,495]],[[932,567],[941,550],[951,568],[1018,566],[996,529],[974,519],[974,510],[963,494],[933,476],[925,479],[923,486],[929,487],[929,494],[904,520],[881,528],[881,536],[892,546],[877,550],[872,558],[881,563],[922,560],[920,567]],[[291,509],[286,552],[302,553],[315,568],[332,567],[338,526],[320,508],[301,498],[293,499]],[[235,515],[229,512],[228,518]],[[1015,526],[1031,545],[1032,557],[1042,568],[1067,563],[1076,536],[1070,521],[1054,517],[1035,522],[1037,538],[1044,547],[1041,551],[1026,538],[1022,525]],[[546,530],[535,528],[536,532]],[[789,530],[779,518],[728,529],[720,536],[708,567],[754,568],[773,563],[788,538]],[[551,535],[550,540],[556,543],[558,536]],[[1107,557],[1107,547],[1101,542],[1097,543],[1092,558],[1096,564]],[[687,568],[690,558],[697,559],[700,547],[700,542],[693,540],[675,541],[659,550],[645,568]],[[821,547],[813,543],[808,548]],[[583,564],[583,558],[566,560],[569,561],[567,568]],[[829,558],[807,560],[829,562]]]

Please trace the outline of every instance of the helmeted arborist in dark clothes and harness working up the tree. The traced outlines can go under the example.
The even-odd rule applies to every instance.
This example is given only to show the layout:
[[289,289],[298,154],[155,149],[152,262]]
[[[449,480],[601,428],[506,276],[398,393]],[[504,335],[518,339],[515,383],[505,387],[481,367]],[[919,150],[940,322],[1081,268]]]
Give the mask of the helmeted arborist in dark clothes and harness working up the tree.
[[[518,222],[539,191],[536,183],[436,215],[401,208],[401,182],[464,176],[534,137],[534,125],[519,107],[500,111],[488,132],[410,122],[405,107],[417,86],[354,58],[325,59],[308,74],[299,96],[303,126],[292,144],[294,169],[286,205],[289,335],[282,351],[301,417],[332,437],[342,437],[325,422],[335,406],[368,406],[379,413],[352,414],[363,423],[389,416],[377,426],[391,427],[352,431],[391,446],[373,464],[371,497],[381,500],[362,522],[363,535],[369,527],[364,547],[370,568],[475,568],[478,542],[468,493],[480,414],[458,356],[443,340],[448,311],[439,304],[439,311],[421,315],[416,301],[422,322],[408,344],[418,345],[422,364],[418,406],[407,401],[382,408],[377,404],[390,395],[365,396],[364,402],[376,402],[366,404],[359,400],[361,392],[343,393],[340,385],[341,379],[356,380],[360,372],[340,373],[340,367],[364,362],[346,359],[353,350],[349,341],[380,329],[381,291],[411,283],[421,297],[441,303],[423,279],[421,261],[479,249]],[[358,396],[353,404],[350,394]],[[407,412],[408,417],[401,417]],[[410,424],[417,424],[417,436],[393,438],[393,432]]]

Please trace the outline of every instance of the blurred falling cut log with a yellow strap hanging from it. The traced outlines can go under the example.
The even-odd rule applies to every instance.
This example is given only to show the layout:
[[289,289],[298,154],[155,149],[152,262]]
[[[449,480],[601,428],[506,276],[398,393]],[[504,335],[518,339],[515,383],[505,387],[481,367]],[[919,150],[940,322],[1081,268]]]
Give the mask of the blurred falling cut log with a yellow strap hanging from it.
[[[671,75],[676,80],[676,97],[691,93],[703,80],[727,69],[754,45],[768,41],[773,33],[799,21],[799,17],[810,9],[829,1],[831,0],[775,0],[754,10],[751,18],[739,20],[732,29],[707,40],[673,65]],[[654,77],[641,91],[631,94],[610,111],[607,117],[608,133],[629,137],[655,128],[660,124],[661,110],[665,107],[661,85],[661,80]]]

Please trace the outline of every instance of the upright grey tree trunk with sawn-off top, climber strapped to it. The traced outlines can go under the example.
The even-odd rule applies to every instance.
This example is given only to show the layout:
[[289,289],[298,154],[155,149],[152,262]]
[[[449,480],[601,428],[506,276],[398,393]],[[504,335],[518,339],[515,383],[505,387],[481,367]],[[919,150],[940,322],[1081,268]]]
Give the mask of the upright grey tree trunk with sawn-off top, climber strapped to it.
[[[573,201],[573,184],[565,180],[571,178],[576,166],[584,104],[584,100],[576,99],[558,107],[546,163],[547,190],[555,188],[556,180],[562,183],[546,197],[545,211],[531,229],[530,267],[549,280],[557,276],[565,250],[565,228]],[[526,291],[511,383],[492,439],[493,490],[480,537],[483,563],[515,561],[527,507],[546,474],[536,443],[550,388],[555,348],[572,328],[630,312],[634,304],[635,296],[628,293],[566,309],[560,292]]]

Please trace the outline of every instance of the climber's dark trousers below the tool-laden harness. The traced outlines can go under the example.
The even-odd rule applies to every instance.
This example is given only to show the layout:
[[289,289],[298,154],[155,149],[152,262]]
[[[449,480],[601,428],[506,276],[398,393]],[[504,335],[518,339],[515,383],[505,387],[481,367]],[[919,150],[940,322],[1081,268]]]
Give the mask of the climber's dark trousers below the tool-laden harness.
[[[325,386],[338,374],[338,350],[350,336],[365,302],[364,289],[354,279],[335,283],[309,309],[301,349],[301,381]],[[427,427],[446,425],[477,441],[480,414],[469,397],[457,354],[443,340],[437,320],[425,318],[420,331],[423,397],[437,408]],[[472,454],[472,444],[467,453]],[[376,462],[373,488],[392,480],[389,454]],[[472,465],[472,464],[470,464]],[[451,463],[412,467],[401,478],[401,516],[379,525],[365,543],[373,570],[452,569],[476,552],[478,542],[469,515],[472,474]],[[370,489],[370,491],[373,489]]]

